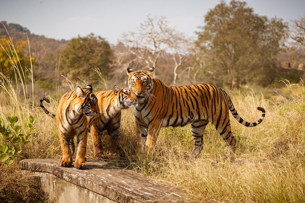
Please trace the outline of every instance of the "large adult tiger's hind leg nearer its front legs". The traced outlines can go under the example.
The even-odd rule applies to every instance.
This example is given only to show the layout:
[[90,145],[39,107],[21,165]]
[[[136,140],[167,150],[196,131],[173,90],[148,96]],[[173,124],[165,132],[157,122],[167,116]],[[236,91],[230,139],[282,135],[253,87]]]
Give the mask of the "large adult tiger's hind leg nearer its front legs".
[[191,123],[191,135],[194,140],[194,149],[191,155],[197,156],[200,154],[203,148],[203,133],[206,129],[209,121],[207,120],[200,120]]

